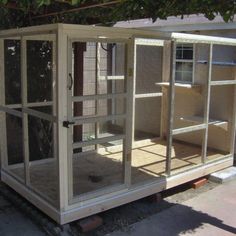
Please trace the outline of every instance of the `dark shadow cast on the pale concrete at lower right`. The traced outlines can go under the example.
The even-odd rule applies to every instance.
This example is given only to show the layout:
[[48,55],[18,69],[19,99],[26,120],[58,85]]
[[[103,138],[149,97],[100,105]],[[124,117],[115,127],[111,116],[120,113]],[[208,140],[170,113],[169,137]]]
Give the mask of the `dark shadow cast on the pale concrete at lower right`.
[[[170,209],[146,219],[145,224],[134,224],[129,229],[129,234],[134,235],[132,232],[137,232],[137,230],[139,231],[138,235],[142,235],[142,233],[149,235],[155,233],[155,235],[162,236],[193,234],[197,229],[203,228],[205,224],[209,224],[236,235],[235,227],[227,225],[222,220],[207,213],[197,211],[192,207],[182,204],[164,203],[164,201],[162,204],[169,205]],[[123,235],[123,233],[118,233],[117,235]]]

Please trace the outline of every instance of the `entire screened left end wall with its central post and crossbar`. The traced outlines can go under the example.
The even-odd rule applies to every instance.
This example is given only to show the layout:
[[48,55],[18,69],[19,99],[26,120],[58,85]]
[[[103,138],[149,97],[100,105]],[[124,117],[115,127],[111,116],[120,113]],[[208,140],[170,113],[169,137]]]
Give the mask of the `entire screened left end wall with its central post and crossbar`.
[[3,40],[1,106],[6,124],[3,168],[53,205],[58,203],[55,48],[55,35]]

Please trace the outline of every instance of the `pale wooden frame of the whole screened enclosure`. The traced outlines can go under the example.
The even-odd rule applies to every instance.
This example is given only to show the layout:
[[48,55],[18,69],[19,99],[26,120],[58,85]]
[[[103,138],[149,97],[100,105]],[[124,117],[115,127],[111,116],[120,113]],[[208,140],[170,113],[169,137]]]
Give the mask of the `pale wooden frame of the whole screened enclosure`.
[[[148,196],[150,194],[168,189],[184,182],[199,178],[214,171],[226,168],[233,164],[233,152],[235,142],[235,113],[236,113],[236,79],[212,81],[212,47],[214,45],[231,45],[236,46],[235,39],[210,37],[203,35],[188,35],[180,33],[157,33],[153,31],[140,31],[133,29],[118,29],[106,27],[92,26],[77,26],[77,25],[45,25],[37,27],[29,27],[16,30],[0,31],[0,52],[4,51],[4,39],[9,37],[20,37],[21,39],[21,78],[22,78],[22,104],[5,105],[5,84],[4,84],[4,54],[0,53],[0,134],[1,134],[1,176],[2,180],[17,192],[28,199],[32,204],[35,204],[39,209],[48,214],[60,224],[65,224],[73,220],[95,214],[115,206],[119,206],[130,201]],[[26,42],[27,40],[51,40],[53,41],[53,101],[28,103],[27,101],[27,71],[26,71]],[[126,82],[126,90],[116,94],[99,94],[87,96],[72,96],[68,90],[70,83],[69,73],[72,73],[71,66],[71,43],[79,42],[122,42],[125,46],[125,75],[121,76],[99,76],[97,79],[104,80],[124,80]],[[195,125],[177,128],[174,123],[174,101],[175,89],[175,45],[176,43],[204,43],[210,45],[209,63],[208,63],[208,80],[204,94],[204,116],[203,122],[195,123]],[[171,45],[172,44],[172,45]],[[163,86],[162,92],[149,94],[136,94],[136,49],[137,45],[144,46],[159,46],[163,47],[163,82],[168,86]],[[171,45],[171,46],[170,46]],[[198,62],[196,62],[198,63]],[[194,63],[195,64],[195,63]],[[205,64],[205,63],[204,63]],[[233,65],[230,65],[233,66]],[[99,68],[97,68],[99,70]],[[170,73],[169,73],[170,72]],[[196,71],[197,73],[197,71]],[[212,125],[209,119],[210,95],[211,86],[232,86],[234,88],[233,107],[230,119],[228,122],[228,130],[230,129],[230,152],[214,161],[206,161],[208,127]],[[191,90],[195,85],[182,86],[183,89]],[[168,90],[166,90],[168,89]],[[167,92],[168,91],[168,92]],[[199,92],[200,94],[201,92]],[[135,101],[136,99],[162,98],[162,113],[167,109],[163,102],[163,97],[167,95],[168,100],[168,127],[167,127],[167,154],[165,174],[147,182],[132,183],[132,150],[134,148],[150,145],[155,140],[134,141],[134,122],[135,122]],[[99,99],[115,99],[125,98],[126,109],[124,114],[110,116],[88,116],[88,117],[73,117],[72,103],[83,102],[88,100],[97,101]],[[32,107],[53,106],[53,114],[48,115],[43,112],[36,111]],[[22,112],[15,109],[21,108]],[[6,143],[6,113],[16,117],[21,117],[24,128],[24,168],[25,168],[25,183],[17,179],[11,173],[11,170],[16,169],[19,165],[14,165],[12,168],[7,166],[7,143]],[[53,122],[53,147],[54,159],[56,162],[56,184],[58,185],[59,201],[53,204],[50,199],[39,193],[37,189],[30,185],[29,167],[29,149],[28,149],[28,130],[27,120],[28,115],[33,115],[43,120]],[[76,125],[89,122],[98,123],[99,121],[125,119],[125,132],[122,135],[113,135],[111,137],[102,137],[99,135],[95,139],[85,142],[72,143],[72,127],[66,128],[63,126],[64,121],[75,122]],[[163,120],[161,121],[161,137],[164,138]],[[186,134],[189,132],[202,130],[204,131],[204,139],[202,143],[202,163],[184,169],[182,173],[172,172],[172,147],[173,138],[178,134]],[[87,145],[98,145],[100,143],[123,140],[123,144],[111,147],[112,149],[121,150],[123,146],[123,183],[108,188],[102,188],[98,191],[88,192],[77,197],[73,197],[73,178],[72,178],[72,156],[73,148],[81,148]],[[108,150],[108,149],[107,149]],[[104,149],[104,152],[107,151]],[[45,163],[51,163],[51,160],[44,160]],[[34,166],[43,164],[44,161],[34,163]],[[20,164],[22,166],[23,164]]]

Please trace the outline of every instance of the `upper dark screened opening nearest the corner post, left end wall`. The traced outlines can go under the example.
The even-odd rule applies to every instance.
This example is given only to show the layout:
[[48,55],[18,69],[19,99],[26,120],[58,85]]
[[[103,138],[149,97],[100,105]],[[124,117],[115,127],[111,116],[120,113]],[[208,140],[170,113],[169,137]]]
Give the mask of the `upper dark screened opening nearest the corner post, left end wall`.
[[52,50],[50,41],[27,41],[28,102],[52,100]]

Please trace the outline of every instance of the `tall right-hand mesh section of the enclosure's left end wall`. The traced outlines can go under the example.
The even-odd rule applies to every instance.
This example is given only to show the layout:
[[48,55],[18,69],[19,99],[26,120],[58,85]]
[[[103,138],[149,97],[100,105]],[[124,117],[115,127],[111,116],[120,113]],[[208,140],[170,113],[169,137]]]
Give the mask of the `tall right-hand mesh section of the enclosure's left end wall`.
[[[39,194],[56,204],[58,201],[57,158],[55,156],[55,105],[53,83],[55,41],[29,38],[26,45],[29,184]],[[55,86],[55,84],[54,84]]]

